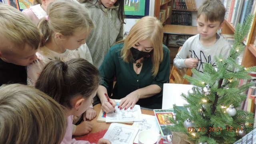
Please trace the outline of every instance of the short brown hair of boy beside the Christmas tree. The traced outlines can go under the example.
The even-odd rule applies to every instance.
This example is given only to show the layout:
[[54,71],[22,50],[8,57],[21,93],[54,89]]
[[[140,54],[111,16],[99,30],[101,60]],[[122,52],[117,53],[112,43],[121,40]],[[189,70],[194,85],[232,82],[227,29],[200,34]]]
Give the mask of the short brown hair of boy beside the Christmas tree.
[[218,21],[222,23],[224,21],[225,12],[225,7],[220,0],[205,0],[198,9],[197,18],[199,18],[201,14],[204,14],[206,22]]

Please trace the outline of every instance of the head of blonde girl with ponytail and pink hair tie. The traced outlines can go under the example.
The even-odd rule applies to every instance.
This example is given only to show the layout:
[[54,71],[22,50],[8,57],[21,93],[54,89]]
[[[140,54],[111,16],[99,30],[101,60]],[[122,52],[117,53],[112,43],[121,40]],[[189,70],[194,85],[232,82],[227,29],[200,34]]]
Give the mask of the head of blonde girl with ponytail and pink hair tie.
[[60,48],[75,50],[94,28],[88,10],[74,0],[55,0],[47,8],[48,17],[41,20],[38,28],[46,42],[55,42]]

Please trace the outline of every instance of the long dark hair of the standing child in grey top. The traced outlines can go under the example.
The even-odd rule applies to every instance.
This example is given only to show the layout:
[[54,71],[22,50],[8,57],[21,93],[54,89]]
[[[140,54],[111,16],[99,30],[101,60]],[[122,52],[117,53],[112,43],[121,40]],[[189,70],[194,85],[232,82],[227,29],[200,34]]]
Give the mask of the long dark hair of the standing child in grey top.
[[[92,4],[90,1],[92,0],[78,0],[78,2],[82,3],[90,3]],[[92,4],[95,5],[97,4],[97,2],[99,4],[102,4],[100,0],[96,1],[96,3]],[[124,0],[116,0],[116,2],[114,3],[114,6],[118,6],[118,10],[117,10],[117,14],[118,14],[118,19],[120,20],[120,22],[122,24],[124,24]],[[100,7],[100,9],[102,10],[102,8]],[[104,10],[102,10],[103,12],[105,12]]]

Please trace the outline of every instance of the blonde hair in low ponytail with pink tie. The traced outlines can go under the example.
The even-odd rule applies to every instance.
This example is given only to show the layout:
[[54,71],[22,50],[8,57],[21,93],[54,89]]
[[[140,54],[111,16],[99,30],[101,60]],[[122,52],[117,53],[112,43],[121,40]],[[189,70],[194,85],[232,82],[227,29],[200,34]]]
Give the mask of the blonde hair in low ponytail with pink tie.
[[54,32],[72,36],[84,28],[94,28],[88,10],[75,0],[55,0],[47,7],[47,14],[49,20],[42,18],[38,23],[44,38],[41,46],[44,46]]

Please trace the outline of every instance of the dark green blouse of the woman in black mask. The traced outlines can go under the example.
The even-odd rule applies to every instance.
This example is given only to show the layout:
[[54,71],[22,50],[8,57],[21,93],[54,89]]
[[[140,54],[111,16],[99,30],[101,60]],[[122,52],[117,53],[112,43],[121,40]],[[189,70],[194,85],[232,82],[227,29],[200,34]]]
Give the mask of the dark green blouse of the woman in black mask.
[[[158,74],[153,77],[151,57],[144,58],[140,74],[137,75],[133,69],[133,63],[124,62],[120,56],[123,45],[124,43],[120,43],[112,46],[99,68],[102,77],[100,85],[107,88],[109,96],[112,93],[111,98],[121,99],[131,92],[151,84],[157,84],[163,90],[163,84],[168,83],[170,74],[169,49],[163,45],[164,58],[160,64]],[[116,78],[116,84],[112,90],[114,78]],[[149,98],[140,99],[136,104],[147,107],[159,99],[162,100],[162,91]]]

